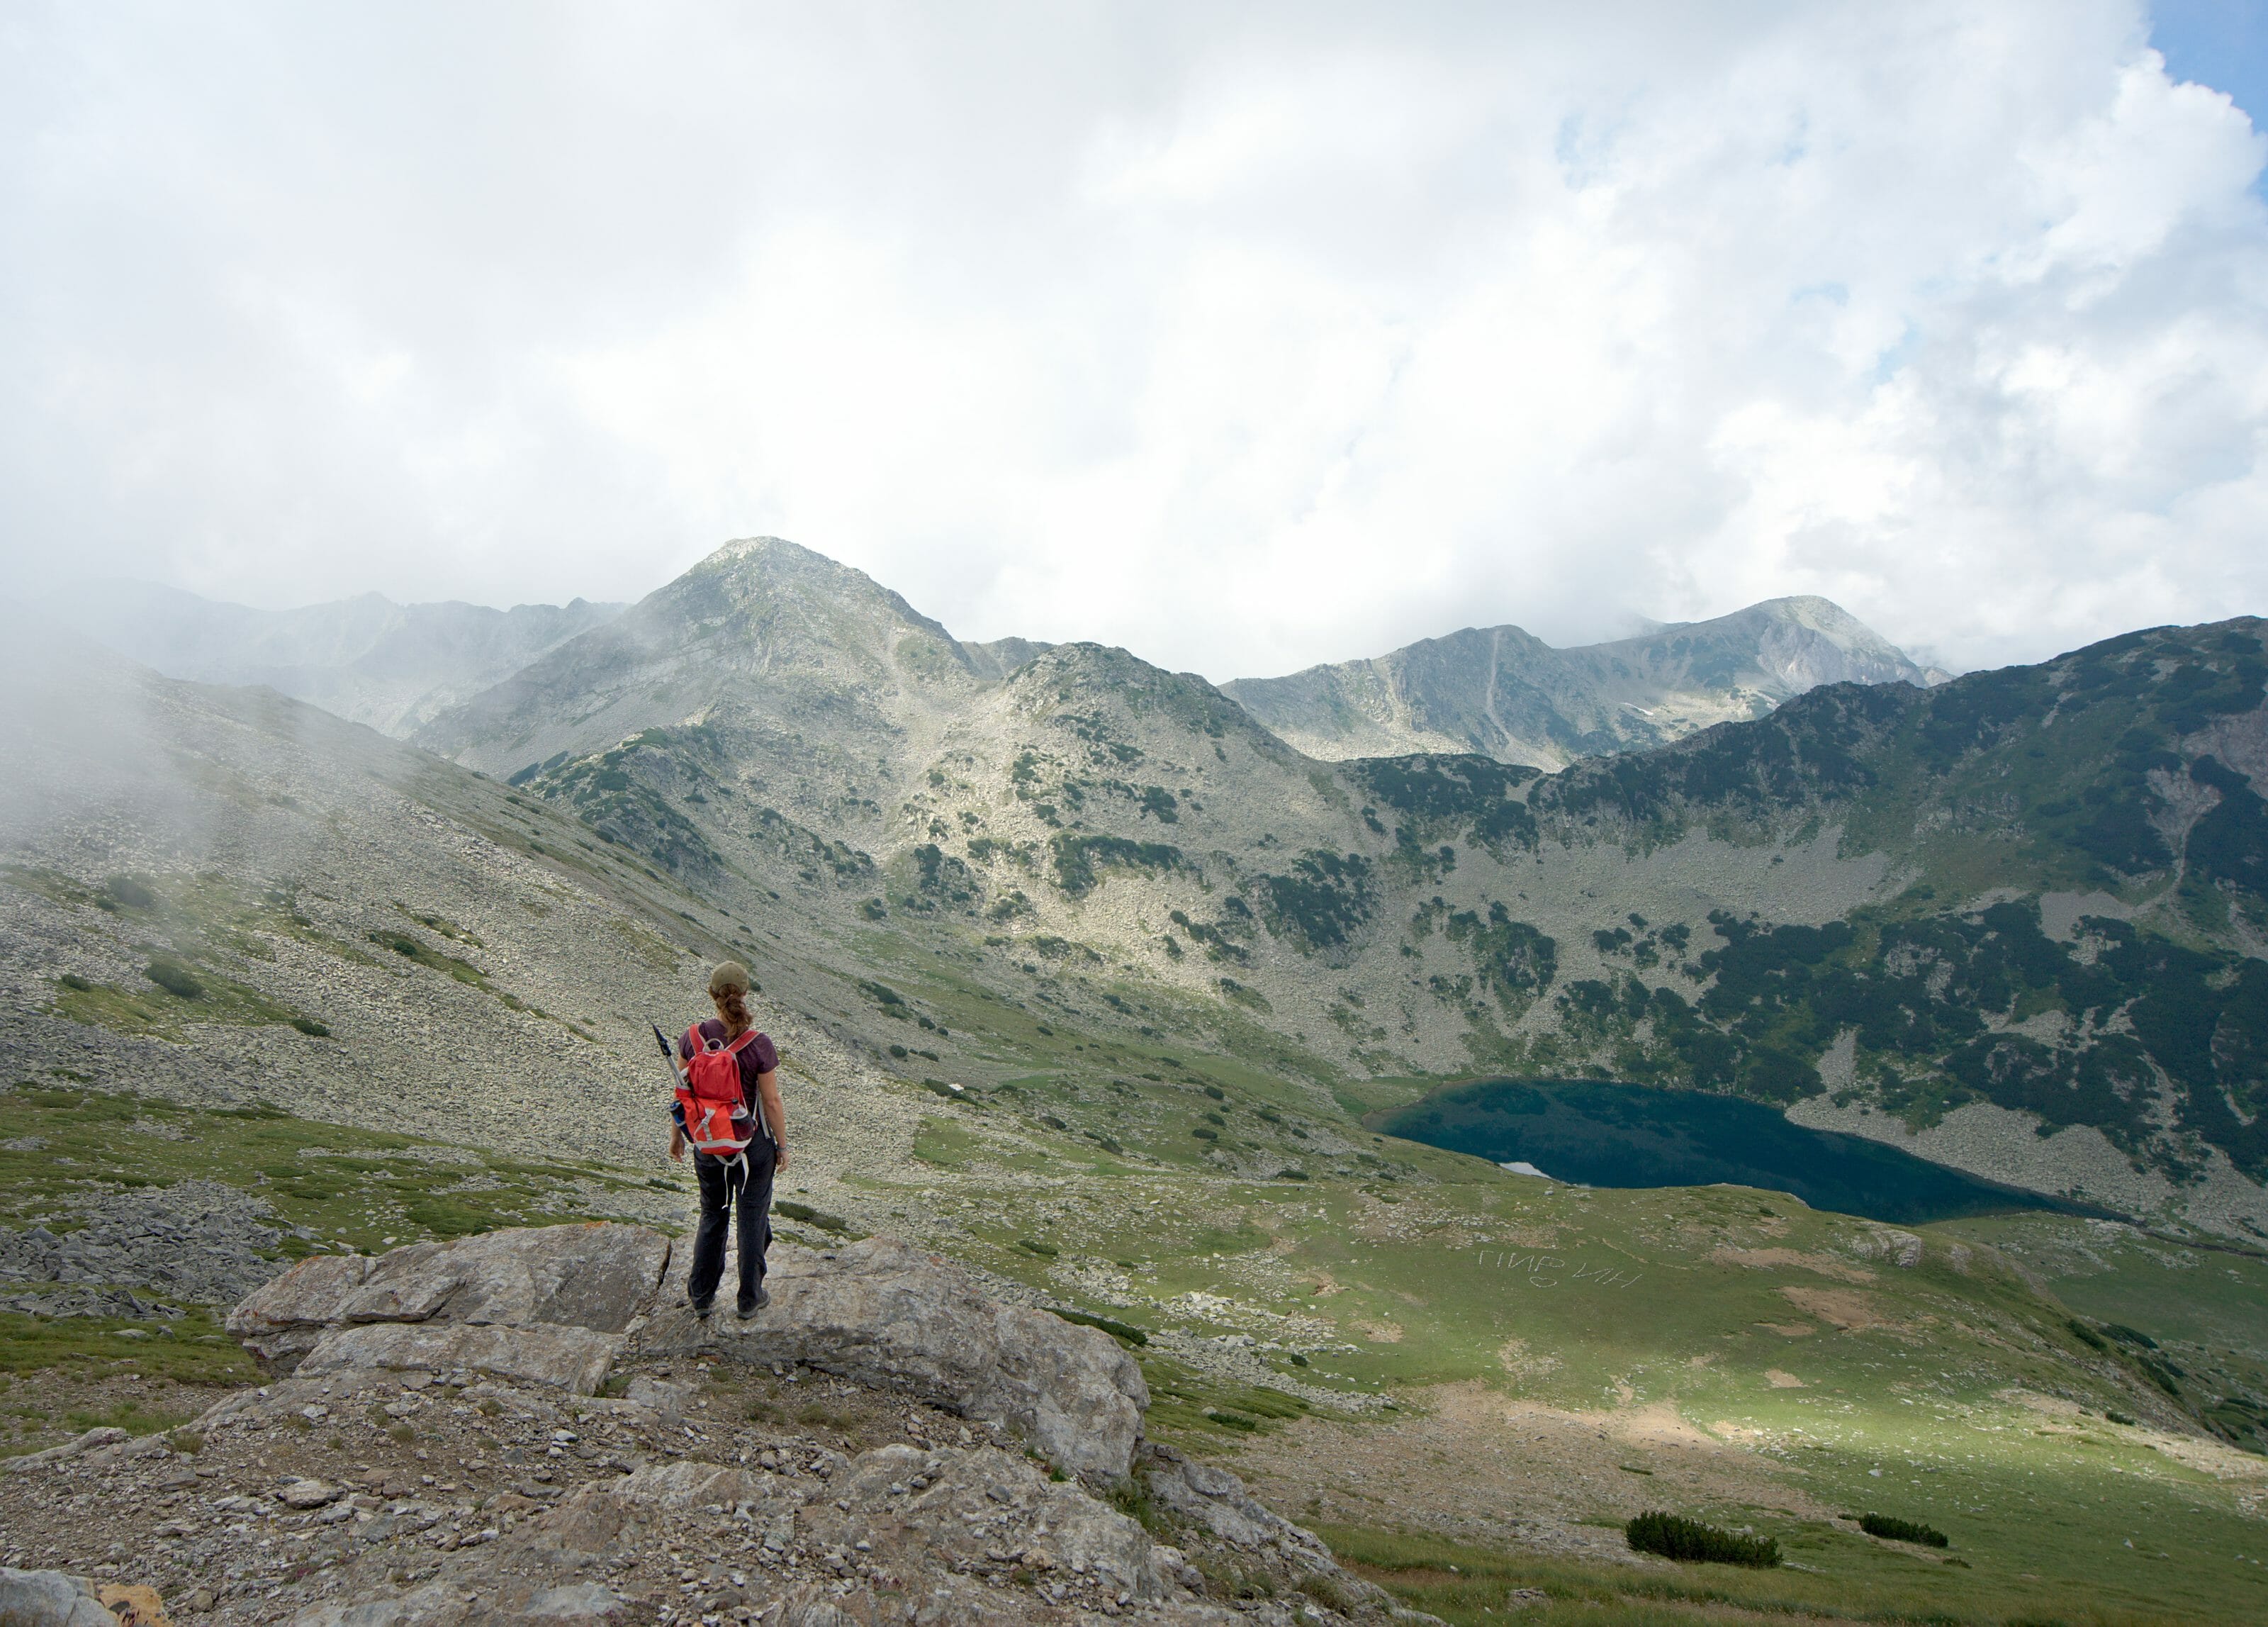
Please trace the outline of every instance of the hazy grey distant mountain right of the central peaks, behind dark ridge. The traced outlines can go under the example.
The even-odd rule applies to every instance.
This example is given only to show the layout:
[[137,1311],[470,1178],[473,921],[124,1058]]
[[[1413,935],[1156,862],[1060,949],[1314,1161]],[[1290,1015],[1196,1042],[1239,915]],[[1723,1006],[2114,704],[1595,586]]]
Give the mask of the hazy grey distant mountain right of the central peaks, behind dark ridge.
[[1821,683],[1944,683],[1842,606],[1767,599],[1606,644],[1467,626],[1370,660],[1220,685],[1311,758],[1479,751],[1560,769],[1742,717]]

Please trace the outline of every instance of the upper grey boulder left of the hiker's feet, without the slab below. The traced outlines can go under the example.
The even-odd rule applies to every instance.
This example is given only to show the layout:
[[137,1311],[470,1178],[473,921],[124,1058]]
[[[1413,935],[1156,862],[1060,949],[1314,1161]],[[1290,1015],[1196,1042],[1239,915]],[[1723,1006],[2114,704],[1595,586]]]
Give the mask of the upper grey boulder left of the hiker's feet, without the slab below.
[[411,1244],[376,1259],[302,1259],[229,1312],[229,1332],[288,1366],[352,1323],[585,1327],[619,1334],[653,1305],[669,1239],[592,1221]]

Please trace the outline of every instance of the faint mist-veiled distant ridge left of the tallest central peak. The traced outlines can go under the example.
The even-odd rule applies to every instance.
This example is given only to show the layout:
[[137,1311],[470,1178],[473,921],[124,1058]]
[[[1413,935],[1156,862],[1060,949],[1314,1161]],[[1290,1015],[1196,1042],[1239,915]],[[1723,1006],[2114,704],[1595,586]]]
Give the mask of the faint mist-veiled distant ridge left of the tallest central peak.
[[57,615],[172,678],[265,683],[379,733],[406,737],[435,713],[601,626],[619,604],[395,604],[363,592],[256,610],[143,581],[104,583]]

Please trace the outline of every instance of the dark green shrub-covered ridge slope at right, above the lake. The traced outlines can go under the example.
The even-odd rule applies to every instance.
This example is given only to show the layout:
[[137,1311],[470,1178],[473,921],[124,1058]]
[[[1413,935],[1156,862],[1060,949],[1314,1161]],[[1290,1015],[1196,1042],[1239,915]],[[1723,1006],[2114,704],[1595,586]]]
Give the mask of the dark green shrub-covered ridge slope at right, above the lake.
[[[1472,985],[1438,994],[1551,1001],[1556,1032],[1499,1048],[1508,1073],[1792,1103],[1823,1089],[1821,1055],[1855,1030],[1855,1082],[1889,1112],[1991,1101],[2100,1126],[2177,1180],[2207,1146],[2268,1178],[2268,962],[2239,949],[2268,933],[2268,806],[2223,760],[2268,758],[2257,629],[2130,633],[1935,690],[1833,685],[1549,778],[1481,758],[1347,767],[1399,821],[1404,871],[1433,865],[1445,837],[1535,849],[1590,828],[1644,849],[1694,828],[1769,840],[1808,817],[1921,878],[1826,926],[1715,910],[1696,933],[1633,914],[1592,933],[1615,969],[1581,980],[1560,980],[1560,946],[1501,903],[1433,899],[1420,928],[1474,958]],[[2016,896],[1935,903],[1994,887]],[[2050,937],[2048,892],[2089,894],[2098,912]]]

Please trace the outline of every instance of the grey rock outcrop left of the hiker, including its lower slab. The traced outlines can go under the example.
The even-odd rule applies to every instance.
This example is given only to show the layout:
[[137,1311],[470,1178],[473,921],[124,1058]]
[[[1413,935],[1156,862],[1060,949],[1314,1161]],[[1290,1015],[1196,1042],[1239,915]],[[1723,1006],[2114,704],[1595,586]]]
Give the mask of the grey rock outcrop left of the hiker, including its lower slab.
[[667,1266],[667,1237],[610,1223],[322,1255],[245,1298],[229,1332],[281,1368],[474,1368],[590,1393]]

